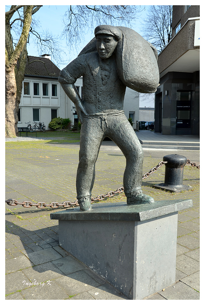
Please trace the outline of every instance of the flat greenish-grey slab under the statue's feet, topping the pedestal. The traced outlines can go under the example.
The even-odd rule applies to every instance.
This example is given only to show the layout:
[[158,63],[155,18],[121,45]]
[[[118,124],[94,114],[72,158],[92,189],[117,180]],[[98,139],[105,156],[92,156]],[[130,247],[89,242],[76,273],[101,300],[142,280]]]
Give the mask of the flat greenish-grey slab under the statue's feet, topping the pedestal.
[[159,200],[151,204],[127,205],[126,202],[94,203],[92,210],[81,211],[79,207],[51,213],[50,219],[58,220],[107,220],[145,221],[193,206],[191,199]]

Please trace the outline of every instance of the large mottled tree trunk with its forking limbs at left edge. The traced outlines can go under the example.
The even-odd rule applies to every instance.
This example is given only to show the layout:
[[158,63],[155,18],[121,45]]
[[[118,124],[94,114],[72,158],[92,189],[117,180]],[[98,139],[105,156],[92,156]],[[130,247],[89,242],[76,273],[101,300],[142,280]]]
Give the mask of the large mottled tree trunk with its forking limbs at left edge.
[[[12,6],[15,8],[16,6]],[[19,81],[24,79],[24,71],[26,66],[26,43],[30,30],[32,13],[34,5],[24,6],[24,20],[23,29],[15,50],[12,48],[12,37],[10,33],[10,18],[11,14],[6,15],[6,50],[5,50],[5,78],[6,78],[6,94],[5,94],[5,135],[7,137],[16,137],[18,135],[18,111],[20,103],[20,95],[22,91],[22,84]],[[38,8],[38,7],[37,7]],[[38,8],[39,9],[39,8]],[[21,63],[22,55],[22,63]],[[17,60],[19,59],[19,71],[15,69]],[[24,67],[23,67],[24,63]],[[24,68],[24,69],[23,69]],[[16,77],[15,77],[16,70]],[[17,82],[16,82],[17,80]]]

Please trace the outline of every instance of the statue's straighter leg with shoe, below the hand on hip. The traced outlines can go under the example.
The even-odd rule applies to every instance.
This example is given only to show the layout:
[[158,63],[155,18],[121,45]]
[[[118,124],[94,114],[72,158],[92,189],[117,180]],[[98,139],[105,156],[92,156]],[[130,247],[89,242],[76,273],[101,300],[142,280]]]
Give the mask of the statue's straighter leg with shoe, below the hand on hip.
[[95,163],[103,139],[100,118],[85,118],[81,126],[79,164],[76,177],[77,199],[81,210],[90,210],[95,180]]

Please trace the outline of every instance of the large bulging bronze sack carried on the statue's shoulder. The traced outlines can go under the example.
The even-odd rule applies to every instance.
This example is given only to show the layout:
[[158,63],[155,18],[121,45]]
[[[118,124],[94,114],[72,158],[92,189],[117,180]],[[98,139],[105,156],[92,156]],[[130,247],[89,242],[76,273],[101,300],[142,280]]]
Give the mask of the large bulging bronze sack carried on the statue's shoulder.
[[[115,50],[120,80],[135,91],[155,92],[159,85],[156,48],[134,30],[128,27],[117,28],[122,31],[122,38]],[[79,55],[92,51],[96,51],[96,38],[93,38]]]

